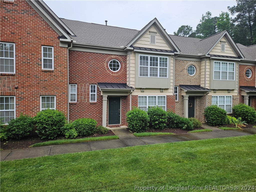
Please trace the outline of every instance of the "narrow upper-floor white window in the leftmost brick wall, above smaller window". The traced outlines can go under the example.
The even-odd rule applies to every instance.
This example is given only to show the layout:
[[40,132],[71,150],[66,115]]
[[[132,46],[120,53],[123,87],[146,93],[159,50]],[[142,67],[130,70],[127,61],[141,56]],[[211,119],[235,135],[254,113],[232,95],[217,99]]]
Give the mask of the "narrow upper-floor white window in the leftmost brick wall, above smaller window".
[[53,55],[53,47],[42,46],[42,69],[54,69]]

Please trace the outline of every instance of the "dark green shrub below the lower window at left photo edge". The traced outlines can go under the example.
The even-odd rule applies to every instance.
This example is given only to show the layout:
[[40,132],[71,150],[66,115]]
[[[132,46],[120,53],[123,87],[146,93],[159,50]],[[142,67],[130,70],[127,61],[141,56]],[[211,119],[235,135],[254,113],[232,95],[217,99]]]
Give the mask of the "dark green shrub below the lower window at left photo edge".
[[20,116],[11,119],[6,126],[6,134],[8,138],[21,139],[26,137],[34,129],[33,118],[29,115],[23,115],[20,113]]

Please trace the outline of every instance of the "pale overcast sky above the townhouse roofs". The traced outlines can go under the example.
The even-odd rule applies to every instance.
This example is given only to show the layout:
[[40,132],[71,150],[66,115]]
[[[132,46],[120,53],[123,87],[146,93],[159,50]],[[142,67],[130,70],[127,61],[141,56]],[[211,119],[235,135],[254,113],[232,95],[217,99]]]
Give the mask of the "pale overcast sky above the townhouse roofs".
[[207,11],[219,16],[236,1],[53,1],[44,0],[60,18],[141,30],[155,17],[172,35],[181,25],[196,29]]

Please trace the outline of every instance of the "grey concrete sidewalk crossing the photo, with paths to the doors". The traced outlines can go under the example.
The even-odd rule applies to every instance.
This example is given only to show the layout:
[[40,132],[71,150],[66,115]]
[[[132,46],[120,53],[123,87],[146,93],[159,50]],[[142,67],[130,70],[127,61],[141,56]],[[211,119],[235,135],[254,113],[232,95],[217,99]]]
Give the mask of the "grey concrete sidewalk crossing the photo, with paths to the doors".
[[[213,129],[216,127],[209,126],[207,128]],[[177,134],[177,135],[160,135],[160,136],[149,136],[149,137],[135,137],[125,128],[118,128],[118,129],[115,128],[115,129],[112,129],[112,131],[119,137],[118,140],[93,141],[93,142],[86,142],[86,143],[72,143],[72,144],[64,144],[64,145],[31,147],[31,148],[15,149],[15,150],[2,150],[0,151],[0,161],[33,158],[33,157],[49,156],[49,155],[64,154],[64,153],[103,150],[103,149],[110,149],[110,148],[136,146],[136,145],[171,143],[171,142],[179,142],[179,141],[191,141],[191,140],[201,140],[201,139],[209,139],[209,138],[222,138],[222,137],[233,137],[233,136],[256,134],[256,128],[244,129],[244,130],[228,130],[228,131],[223,131],[221,129],[216,128],[212,132],[185,133],[185,134]]]

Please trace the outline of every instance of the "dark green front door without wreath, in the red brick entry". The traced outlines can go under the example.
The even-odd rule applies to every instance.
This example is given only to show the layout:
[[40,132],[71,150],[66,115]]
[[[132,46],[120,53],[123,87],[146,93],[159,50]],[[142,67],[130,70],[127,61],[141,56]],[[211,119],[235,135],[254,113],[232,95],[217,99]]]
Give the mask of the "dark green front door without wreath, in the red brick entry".
[[120,124],[120,97],[109,97],[109,125]]

